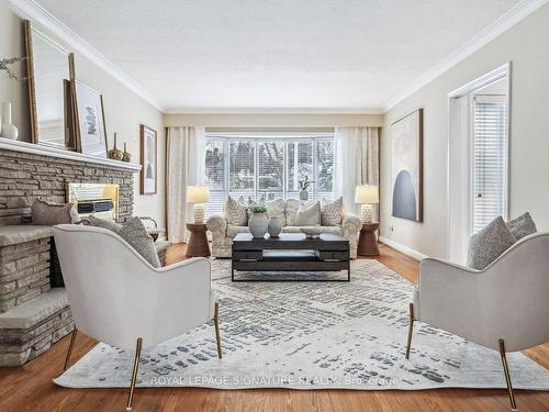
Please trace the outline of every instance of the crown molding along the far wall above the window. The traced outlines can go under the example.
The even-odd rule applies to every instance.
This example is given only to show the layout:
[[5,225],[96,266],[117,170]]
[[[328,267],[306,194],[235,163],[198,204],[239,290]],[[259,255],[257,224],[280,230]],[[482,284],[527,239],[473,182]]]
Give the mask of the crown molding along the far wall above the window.
[[168,108],[165,114],[383,114],[381,108]]

